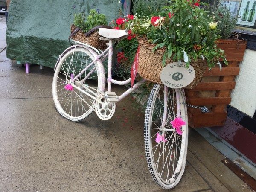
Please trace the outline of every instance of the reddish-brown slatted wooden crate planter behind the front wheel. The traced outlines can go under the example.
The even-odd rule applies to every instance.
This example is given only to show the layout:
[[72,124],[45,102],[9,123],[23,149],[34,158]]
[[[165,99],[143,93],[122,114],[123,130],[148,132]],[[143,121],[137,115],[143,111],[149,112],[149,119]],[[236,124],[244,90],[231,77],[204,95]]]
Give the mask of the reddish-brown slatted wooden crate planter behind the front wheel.
[[225,124],[227,105],[231,102],[231,91],[236,85],[235,77],[239,74],[239,62],[243,60],[246,44],[247,41],[241,40],[218,40],[217,45],[225,51],[228,65],[223,64],[222,70],[218,67],[210,71],[207,69],[197,86],[185,90],[188,104],[206,105],[210,110],[209,113],[202,113],[200,109],[188,107],[189,126],[199,128]]

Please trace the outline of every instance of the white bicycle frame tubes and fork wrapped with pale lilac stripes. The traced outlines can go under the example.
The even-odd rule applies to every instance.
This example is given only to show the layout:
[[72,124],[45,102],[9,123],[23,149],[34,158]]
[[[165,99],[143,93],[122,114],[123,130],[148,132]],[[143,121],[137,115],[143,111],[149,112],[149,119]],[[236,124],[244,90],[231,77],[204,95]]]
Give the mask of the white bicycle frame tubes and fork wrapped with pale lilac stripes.
[[[78,44],[83,45],[83,43],[80,42],[76,42]],[[77,44],[76,44],[77,45]],[[76,48],[76,45],[73,46],[74,48]],[[113,41],[110,39],[109,43],[107,44],[108,48],[105,49],[101,54],[99,54],[99,52],[94,52],[92,50],[92,48],[87,48],[86,44],[85,46],[83,46],[84,48],[87,48],[90,52],[93,53],[94,56],[96,56],[95,60],[93,60],[90,64],[87,65],[87,67],[85,67],[77,76],[75,77],[71,77],[70,80],[70,84],[75,87],[76,89],[78,89],[79,91],[81,91],[82,93],[84,93],[85,95],[89,96],[92,99],[96,99],[96,94],[93,93],[92,90],[88,89],[87,87],[84,87],[86,89],[86,91],[84,91],[83,89],[81,89],[80,87],[77,87],[74,83],[74,81],[79,78],[79,76],[81,76],[86,70],[89,69],[90,66],[92,66],[96,61],[102,62],[105,60],[105,58],[108,56],[108,78],[107,78],[107,82],[108,82],[108,91],[111,91],[111,83],[113,84],[118,84],[118,85],[125,85],[131,82],[131,78],[127,79],[126,81],[117,81],[112,79],[112,55],[113,55]],[[94,48],[95,49],[95,48]],[[74,49],[75,50],[75,49]],[[73,55],[71,58],[71,61],[73,59]],[[68,69],[69,70],[69,69]],[[90,74],[92,74],[94,71],[96,70],[96,67],[94,67],[92,70],[90,70],[90,72],[87,74],[87,76],[84,78],[83,81],[85,81]],[[102,77],[101,76],[101,80],[102,82],[105,84],[106,83],[106,79],[105,79],[105,75]],[[122,93],[119,96],[118,101],[124,99],[126,96],[128,96],[131,92],[133,92],[134,90],[136,90],[137,88],[140,87],[141,84],[143,84],[146,81],[146,79],[142,79],[141,81],[137,82],[136,84],[134,84],[134,86],[132,88],[129,88],[128,90],[126,90],[124,93]],[[93,95],[90,95],[88,92],[92,93]],[[179,95],[179,89],[175,89],[176,92],[176,102],[177,102],[177,117],[180,117],[180,95]],[[168,99],[168,87],[166,87],[164,85],[164,111],[163,111],[163,121],[162,121],[162,128],[164,127],[164,124],[166,123],[166,118],[167,118],[167,101]],[[173,131],[173,129],[165,129],[166,131]]]

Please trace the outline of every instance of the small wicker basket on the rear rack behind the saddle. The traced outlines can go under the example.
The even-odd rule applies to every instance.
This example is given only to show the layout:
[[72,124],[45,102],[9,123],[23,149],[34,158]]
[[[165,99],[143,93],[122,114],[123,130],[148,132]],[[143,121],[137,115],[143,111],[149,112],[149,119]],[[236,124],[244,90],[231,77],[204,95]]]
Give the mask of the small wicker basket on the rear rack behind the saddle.
[[[76,26],[71,25],[71,33],[76,29]],[[88,37],[85,36],[84,32],[80,29],[72,37],[73,40],[80,41],[82,43],[88,44],[96,49],[104,50],[107,48],[106,41],[99,39],[98,31],[92,32]]]

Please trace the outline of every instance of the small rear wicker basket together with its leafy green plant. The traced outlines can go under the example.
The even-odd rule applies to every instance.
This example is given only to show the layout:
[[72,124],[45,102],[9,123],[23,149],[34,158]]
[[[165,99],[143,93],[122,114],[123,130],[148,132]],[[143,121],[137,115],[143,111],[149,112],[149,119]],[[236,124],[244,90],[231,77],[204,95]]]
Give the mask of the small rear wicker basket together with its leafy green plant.
[[98,14],[94,9],[90,10],[87,17],[84,13],[75,14],[74,24],[71,25],[71,38],[104,50],[107,47],[106,42],[99,39],[97,30],[86,36],[90,29],[99,25],[107,25],[107,20],[104,14]]

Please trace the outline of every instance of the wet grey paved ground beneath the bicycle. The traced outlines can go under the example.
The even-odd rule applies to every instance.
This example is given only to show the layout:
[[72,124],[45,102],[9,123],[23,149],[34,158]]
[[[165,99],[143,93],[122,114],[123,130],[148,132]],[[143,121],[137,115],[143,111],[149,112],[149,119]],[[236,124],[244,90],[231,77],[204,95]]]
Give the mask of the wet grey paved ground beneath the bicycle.
[[[0,192],[161,191],[148,171],[144,118],[131,97],[107,122],[94,113],[79,123],[64,119],[52,100],[53,70],[32,65],[26,74],[7,59],[0,17]],[[190,129],[185,174],[173,191],[251,191],[222,159]]]

